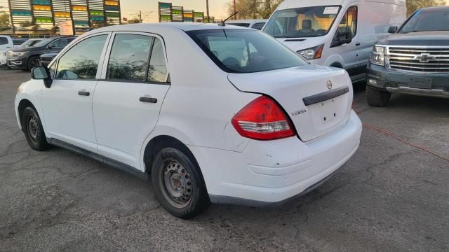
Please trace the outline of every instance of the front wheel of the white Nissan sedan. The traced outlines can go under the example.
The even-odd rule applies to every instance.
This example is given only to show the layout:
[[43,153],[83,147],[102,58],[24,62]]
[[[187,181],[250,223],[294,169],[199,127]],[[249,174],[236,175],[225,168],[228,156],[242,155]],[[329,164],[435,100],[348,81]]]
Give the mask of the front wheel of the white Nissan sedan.
[[50,147],[39,115],[32,107],[27,107],[22,113],[22,130],[29,146],[36,151],[45,151]]

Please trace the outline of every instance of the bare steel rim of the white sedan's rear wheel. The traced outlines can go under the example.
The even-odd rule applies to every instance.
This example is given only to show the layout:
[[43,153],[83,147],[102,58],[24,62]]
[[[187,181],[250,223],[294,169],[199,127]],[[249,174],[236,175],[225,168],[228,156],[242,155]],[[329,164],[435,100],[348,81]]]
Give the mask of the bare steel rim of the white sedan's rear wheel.
[[192,201],[192,176],[180,162],[176,160],[163,162],[160,180],[164,196],[175,207],[186,207]]

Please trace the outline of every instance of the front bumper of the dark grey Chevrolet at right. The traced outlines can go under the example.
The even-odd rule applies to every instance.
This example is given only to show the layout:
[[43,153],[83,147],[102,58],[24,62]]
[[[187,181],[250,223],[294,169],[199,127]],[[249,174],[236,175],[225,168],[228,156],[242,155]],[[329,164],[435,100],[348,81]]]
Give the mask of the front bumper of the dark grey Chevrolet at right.
[[[425,88],[412,86],[410,81],[414,78],[429,80],[431,85]],[[388,92],[449,98],[449,73],[397,71],[368,64],[367,85]]]

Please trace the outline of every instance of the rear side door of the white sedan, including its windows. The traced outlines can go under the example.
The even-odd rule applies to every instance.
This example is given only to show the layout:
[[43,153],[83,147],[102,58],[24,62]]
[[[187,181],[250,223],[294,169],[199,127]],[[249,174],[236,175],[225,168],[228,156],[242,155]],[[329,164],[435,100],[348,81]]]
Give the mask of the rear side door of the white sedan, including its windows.
[[170,88],[163,39],[116,32],[93,98],[100,154],[140,169],[144,139],[156,126]]

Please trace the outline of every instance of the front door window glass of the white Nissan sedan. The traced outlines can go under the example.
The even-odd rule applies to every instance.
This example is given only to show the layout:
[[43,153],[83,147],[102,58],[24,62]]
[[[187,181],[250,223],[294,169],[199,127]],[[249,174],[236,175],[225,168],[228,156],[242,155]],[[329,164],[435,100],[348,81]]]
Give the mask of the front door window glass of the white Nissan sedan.
[[59,59],[56,78],[95,79],[107,35],[86,38]]

